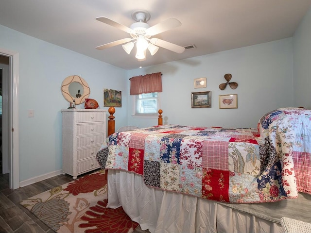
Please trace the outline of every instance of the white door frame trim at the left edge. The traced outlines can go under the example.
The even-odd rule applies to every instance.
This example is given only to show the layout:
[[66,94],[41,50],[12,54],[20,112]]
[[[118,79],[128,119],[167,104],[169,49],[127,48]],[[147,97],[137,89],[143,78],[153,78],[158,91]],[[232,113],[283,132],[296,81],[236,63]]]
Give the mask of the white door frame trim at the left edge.
[[[0,48],[0,55],[9,57],[9,165],[10,189],[19,188],[19,127],[18,127],[18,82],[19,82],[19,54]],[[2,135],[5,136],[5,135]]]

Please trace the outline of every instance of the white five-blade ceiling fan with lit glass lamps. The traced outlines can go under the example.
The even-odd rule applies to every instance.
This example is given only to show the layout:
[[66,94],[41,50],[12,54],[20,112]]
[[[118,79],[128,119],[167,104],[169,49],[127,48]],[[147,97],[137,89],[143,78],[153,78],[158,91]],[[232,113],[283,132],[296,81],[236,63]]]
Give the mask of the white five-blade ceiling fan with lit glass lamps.
[[[173,52],[182,53],[185,48],[179,45],[175,45],[171,42],[161,40],[158,38],[151,38],[152,36],[163,33],[165,31],[171,30],[173,28],[179,27],[181,23],[176,18],[166,19],[152,27],[146,23],[150,19],[150,14],[147,11],[138,10],[132,13],[132,18],[137,21],[133,23],[130,27],[124,26],[116,21],[107,17],[97,17],[98,21],[105,24],[118,28],[124,32],[131,35],[132,38],[124,38],[121,40],[116,40],[101,46],[97,46],[96,49],[104,50],[113,46],[122,45],[122,48],[128,54],[131,53],[136,43],[136,58],[138,61],[143,61],[146,59],[146,50],[148,49],[151,55],[155,55],[159,47],[162,47]],[[134,41],[134,42],[133,42]],[[126,43],[126,44],[125,44]]]

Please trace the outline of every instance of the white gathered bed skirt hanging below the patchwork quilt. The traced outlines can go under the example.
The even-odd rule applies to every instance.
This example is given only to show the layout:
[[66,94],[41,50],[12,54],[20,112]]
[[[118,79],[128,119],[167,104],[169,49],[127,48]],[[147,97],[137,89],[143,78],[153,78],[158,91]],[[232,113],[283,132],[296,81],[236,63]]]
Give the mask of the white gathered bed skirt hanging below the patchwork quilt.
[[108,208],[123,207],[151,233],[282,233],[281,224],[215,201],[150,188],[134,173],[108,170]]

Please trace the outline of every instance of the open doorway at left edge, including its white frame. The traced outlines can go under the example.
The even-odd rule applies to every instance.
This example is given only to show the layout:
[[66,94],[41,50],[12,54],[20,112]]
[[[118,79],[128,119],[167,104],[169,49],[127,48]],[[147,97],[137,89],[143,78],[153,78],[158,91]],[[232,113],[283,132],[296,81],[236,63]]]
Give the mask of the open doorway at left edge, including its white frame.
[[19,187],[18,53],[0,49],[0,59],[4,61],[8,59],[8,64],[0,62],[2,170],[9,172],[9,188],[17,189]]

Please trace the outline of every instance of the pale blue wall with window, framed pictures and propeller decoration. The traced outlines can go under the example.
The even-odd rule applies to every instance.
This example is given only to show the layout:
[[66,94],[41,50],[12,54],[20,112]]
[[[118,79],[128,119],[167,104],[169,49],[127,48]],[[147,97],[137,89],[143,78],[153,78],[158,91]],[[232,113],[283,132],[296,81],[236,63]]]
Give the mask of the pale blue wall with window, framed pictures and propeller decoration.
[[[294,106],[292,38],[228,50],[205,56],[128,71],[128,77],[162,72],[161,108],[164,124],[252,127],[259,118],[280,107]],[[185,51],[187,52],[187,51]],[[147,58],[148,59],[148,58]],[[232,74],[233,90],[224,75]],[[193,80],[206,77],[206,88],[194,88]],[[128,84],[130,85],[129,81]],[[191,108],[191,92],[211,91],[211,108]],[[238,94],[237,109],[219,109],[219,95]],[[129,101],[129,110],[132,102]],[[156,125],[156,119],[131,116],[129,124]]]

